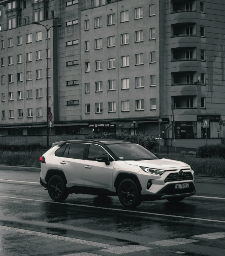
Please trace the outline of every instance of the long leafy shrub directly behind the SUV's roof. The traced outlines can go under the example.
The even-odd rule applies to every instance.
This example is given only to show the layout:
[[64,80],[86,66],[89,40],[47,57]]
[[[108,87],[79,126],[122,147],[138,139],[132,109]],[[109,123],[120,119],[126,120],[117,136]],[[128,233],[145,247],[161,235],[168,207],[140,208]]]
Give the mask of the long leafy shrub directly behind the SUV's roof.
[[127,133],[90,133],[86,136],[86,139],[124,139],[126,141],[133,141],[135,143],[140,144],[142,147],[147,149],[152,149],[155,145],[157,145],[157,141],[152,136],[144,135],[144,134],[136,134],[130,135]]

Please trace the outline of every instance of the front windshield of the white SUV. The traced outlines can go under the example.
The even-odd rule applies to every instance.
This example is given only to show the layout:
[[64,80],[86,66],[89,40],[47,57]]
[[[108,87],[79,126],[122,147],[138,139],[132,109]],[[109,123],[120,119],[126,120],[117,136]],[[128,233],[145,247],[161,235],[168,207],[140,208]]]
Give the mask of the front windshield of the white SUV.
[[107,146],[121,160],[138,161],[159,159],[149,150],[135,143],[118,143]]

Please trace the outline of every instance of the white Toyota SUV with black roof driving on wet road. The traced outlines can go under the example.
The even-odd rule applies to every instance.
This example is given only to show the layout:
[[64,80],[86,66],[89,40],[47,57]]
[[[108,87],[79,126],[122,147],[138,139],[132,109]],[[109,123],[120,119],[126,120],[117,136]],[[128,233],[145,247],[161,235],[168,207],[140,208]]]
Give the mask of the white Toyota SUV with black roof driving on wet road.
[[40,162],[40,184],[54,201],[63,201],[71,193],[110,195],[131,208],[142,201],[176,203],[196,192],[189,165],[160,159],[130,141],[60,141]]

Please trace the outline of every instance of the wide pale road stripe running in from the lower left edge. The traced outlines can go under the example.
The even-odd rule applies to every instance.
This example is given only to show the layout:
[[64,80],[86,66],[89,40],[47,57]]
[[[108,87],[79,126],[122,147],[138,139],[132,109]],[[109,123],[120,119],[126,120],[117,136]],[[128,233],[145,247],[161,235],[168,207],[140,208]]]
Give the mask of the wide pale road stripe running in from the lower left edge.
[[115,245],[110,245],[110,244],[102,244],[102,243],[98,243],[98,242],[92,242],[92,241],[76,239],[76,238],[71,238],[71,237],[66,237],[66,236],[51,235],[51,234],[47,234],[47,233],[35,232],[35,231],[31,231],[31,230],[26,230],[26,229],[16,229],[14,227],[7,227],[7,226],[0,225],[0,229],[14,231],[14,232],[20,232],[20,233],[26,233],[26,234],[35,235],[35,236],[43,236],[46,238],[54,238],[54,239],[59,239],[59,240],[64,240],[64,241],[69,241],[69,242],[75,242],[78,244],[87,244],[87,245],[103,247],[103,248],[115,247]]

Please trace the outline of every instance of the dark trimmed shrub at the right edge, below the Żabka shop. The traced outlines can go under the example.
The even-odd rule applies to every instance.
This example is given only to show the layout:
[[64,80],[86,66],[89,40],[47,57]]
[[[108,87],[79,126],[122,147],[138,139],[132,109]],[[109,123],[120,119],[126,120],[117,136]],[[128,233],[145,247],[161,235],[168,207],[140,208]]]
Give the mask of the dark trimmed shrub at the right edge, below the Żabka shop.
[[208,157],[223,157],[225,158],[225,145],[214,144],[214,145],[204,145],[198,147],[197,150],[198,157],[208,158]]

